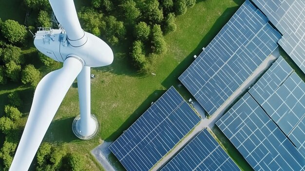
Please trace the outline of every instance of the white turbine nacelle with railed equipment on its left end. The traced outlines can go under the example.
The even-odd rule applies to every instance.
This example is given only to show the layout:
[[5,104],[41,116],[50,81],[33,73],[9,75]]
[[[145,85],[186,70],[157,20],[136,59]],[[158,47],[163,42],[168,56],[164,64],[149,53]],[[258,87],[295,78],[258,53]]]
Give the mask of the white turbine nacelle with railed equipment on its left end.
[[[85,43],[82,43],[85,40]],[[84,38],[80,39],[81,45],[73,41],[72,46],[64,29],[40,28],[36,33],[34,44],[44,55],[52,59],[64,62],[67,57],[79,57],[85,66],[101,67],[110,65],[114,60],[111,48],[95,35],[84,32]]]

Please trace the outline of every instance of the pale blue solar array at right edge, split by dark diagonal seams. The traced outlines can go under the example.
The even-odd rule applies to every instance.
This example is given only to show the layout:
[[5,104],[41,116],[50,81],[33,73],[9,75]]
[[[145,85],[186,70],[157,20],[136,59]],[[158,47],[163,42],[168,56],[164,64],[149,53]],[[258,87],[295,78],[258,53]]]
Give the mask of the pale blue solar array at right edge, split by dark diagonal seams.
[[305,82],[280,57],[249,90],[305,156]]

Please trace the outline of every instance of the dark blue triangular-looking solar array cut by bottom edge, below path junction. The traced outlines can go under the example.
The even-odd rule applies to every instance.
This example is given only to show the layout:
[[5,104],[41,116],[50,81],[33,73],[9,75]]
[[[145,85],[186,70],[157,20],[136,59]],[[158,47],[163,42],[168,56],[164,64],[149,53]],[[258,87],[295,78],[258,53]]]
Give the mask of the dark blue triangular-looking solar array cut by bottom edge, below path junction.
[[240,171],[213,136],[204,129],[161,171]]

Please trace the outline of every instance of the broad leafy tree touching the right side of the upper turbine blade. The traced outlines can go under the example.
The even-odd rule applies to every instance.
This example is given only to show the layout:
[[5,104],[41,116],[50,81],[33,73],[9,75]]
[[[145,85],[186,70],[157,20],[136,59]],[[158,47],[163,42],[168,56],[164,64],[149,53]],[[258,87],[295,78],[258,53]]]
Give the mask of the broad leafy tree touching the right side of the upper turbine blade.
[[103,21],[103,14],[89,7],[81,8],[78,18],[83,29],[95,36],[100,36],[101,30],[106,27],[106,23]]

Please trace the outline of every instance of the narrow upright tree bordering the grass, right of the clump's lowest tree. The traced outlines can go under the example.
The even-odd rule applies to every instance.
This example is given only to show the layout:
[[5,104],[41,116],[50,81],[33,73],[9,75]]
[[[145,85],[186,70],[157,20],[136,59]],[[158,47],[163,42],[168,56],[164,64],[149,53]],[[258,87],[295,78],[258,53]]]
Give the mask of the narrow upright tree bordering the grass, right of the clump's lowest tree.
[[161,54],[166,50],[166,42],[163,38],[161,27],[158,24],[154,24],[152,27],[152,52]]

